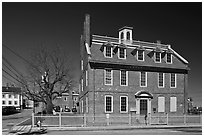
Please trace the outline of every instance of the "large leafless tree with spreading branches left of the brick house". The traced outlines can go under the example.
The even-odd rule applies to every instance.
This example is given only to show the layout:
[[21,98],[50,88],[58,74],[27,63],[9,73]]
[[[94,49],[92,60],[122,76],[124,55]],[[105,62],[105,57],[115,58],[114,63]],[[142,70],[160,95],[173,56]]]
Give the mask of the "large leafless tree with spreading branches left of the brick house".
[[30,100],[43,102],[52,113],[53,100],[69,93],[74,86],[69,56],[59,46],[53,50],[41,47],[33,51],[26,76],[21,80],[23,94]]

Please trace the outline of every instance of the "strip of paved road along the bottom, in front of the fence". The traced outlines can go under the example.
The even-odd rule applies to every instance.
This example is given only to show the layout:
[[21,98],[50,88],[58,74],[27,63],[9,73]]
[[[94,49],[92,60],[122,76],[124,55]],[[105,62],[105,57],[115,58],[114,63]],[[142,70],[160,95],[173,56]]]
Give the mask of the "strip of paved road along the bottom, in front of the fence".
[[201,128],[134,129],[99,131],[48,131],[46,135],[202,135]]

